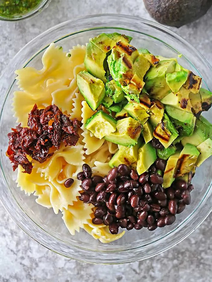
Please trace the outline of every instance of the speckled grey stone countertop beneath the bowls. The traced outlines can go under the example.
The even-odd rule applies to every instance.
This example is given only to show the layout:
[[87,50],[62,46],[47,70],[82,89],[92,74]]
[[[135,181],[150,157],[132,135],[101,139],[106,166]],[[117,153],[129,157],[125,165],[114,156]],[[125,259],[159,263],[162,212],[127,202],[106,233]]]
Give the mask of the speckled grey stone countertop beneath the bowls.
[[[150,19],[142,0],[130,6],[120,0],[52,0],[34,18],[0,21],[0,73],[27,42],[46,29],[78,16],[119,13]],[[212,8],[198,21],[172,28],[212,63]],[[0,184],[1,185],[1,184]],[[169,251],[146,261],[93,265],[59,256],[25,234],[0,204],[0,282],[210,282],[212,280],[212,216]]]

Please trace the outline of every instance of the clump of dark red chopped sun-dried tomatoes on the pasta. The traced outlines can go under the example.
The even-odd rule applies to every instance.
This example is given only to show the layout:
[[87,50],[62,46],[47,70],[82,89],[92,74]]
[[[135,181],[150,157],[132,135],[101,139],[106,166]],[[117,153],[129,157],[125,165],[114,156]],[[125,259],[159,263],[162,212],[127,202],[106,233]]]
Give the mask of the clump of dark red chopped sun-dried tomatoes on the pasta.
[[54,153],[49,148],[60,148],[61,142],[65,146],[75,146],[78,142],[79,122],[70,120],[56,105],[49,105],[45,109],[38,109],[35,104],[29,113],[29,127],[22,127],[21,123],[8,133],[9,146],[6,155],[13,163],[13,170],[21,165],[24,172],[32,172],[32,159],[43,163]]

